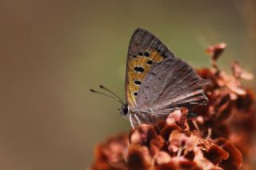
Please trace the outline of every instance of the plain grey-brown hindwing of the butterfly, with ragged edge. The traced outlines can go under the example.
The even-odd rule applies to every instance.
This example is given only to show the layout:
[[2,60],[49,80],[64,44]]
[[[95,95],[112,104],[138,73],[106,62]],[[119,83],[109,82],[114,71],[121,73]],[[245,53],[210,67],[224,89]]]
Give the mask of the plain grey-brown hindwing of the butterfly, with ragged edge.
[[137,109],[170,113],[171,109],[206,104],[203,86],[209,81],[198,77],[190,65],[177,57],[166,57],[146,75],[136,99]]

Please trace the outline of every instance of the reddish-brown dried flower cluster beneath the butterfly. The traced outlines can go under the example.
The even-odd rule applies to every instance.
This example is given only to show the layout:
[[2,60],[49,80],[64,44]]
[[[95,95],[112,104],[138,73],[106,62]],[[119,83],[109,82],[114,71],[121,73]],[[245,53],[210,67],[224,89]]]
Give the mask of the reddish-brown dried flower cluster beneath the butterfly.
[[240,80],[253,76],[238,62],[231,65],[232,75],[218,68],[216,60],[225,47],[210,46],[206,52],[213,68],[198,69],[212,84],[206,89],[208,105],[192,111],[196,117],[184,108],[170,113],[166,121],[110,137],[96,148],[90,169],[250,169],[246,164],[254,132],[254,100]]

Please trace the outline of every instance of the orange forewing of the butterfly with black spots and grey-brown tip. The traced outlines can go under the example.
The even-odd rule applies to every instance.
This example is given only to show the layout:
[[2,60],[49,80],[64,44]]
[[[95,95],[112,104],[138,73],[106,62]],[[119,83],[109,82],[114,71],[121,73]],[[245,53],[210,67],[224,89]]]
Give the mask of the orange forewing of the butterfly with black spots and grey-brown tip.
[[138,90],[151,67],[174,54],[161,40],[147,30],[138,28],[130,39],[126,61],[126,101],[134,109]]

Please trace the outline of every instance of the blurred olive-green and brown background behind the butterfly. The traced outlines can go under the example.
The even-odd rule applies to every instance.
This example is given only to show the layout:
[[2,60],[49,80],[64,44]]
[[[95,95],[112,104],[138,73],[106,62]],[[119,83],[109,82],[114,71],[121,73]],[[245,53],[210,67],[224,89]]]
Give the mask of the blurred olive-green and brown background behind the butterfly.
[[208,45],[226,42],[219,65],[237,60],[255,74],[255,17],[253,0],[2,0],[0,169],[86,169],[98,142],[129,130],[121,105],[89,89],[124,98],[138,26],[194,67],[210,65]]

